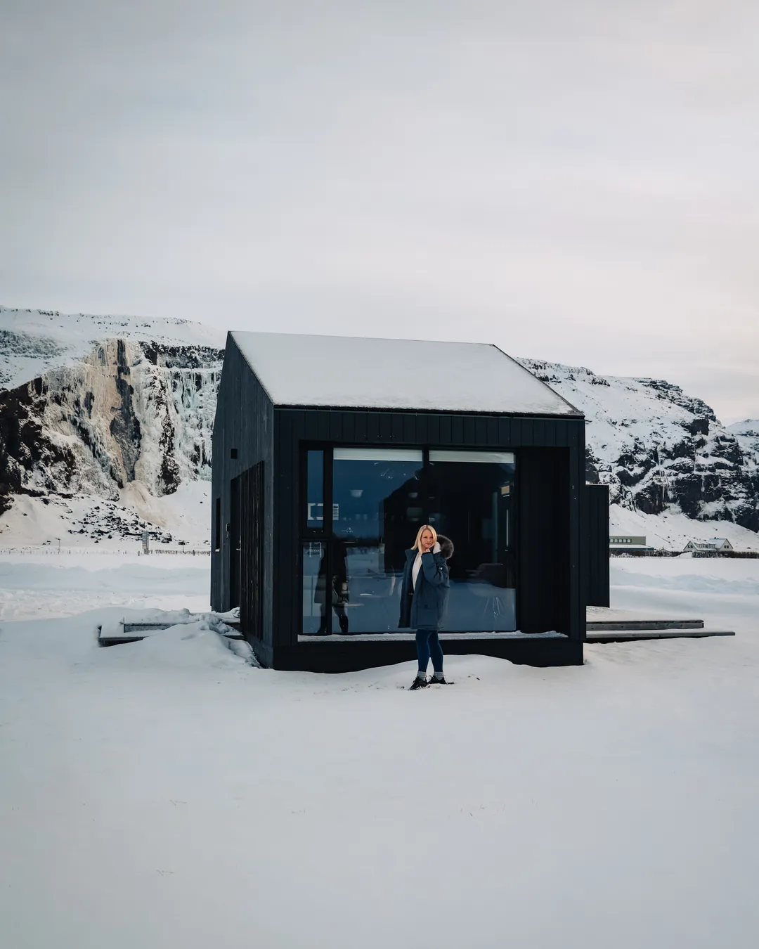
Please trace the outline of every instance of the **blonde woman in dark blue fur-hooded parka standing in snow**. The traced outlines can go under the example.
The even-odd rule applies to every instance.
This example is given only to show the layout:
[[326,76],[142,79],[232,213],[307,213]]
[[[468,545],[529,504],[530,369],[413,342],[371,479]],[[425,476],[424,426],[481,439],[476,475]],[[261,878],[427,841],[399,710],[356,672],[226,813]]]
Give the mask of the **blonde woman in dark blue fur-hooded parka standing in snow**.
[[417,630],[417,678],[412,689],[427,685],[427,663],[432,657],[435,675],[431,682],[448,685],[443,676],[443,650],[437,630],[443,622],[448,603],[448,565],[454,545],[435,528],[424,524],[417,532],[414,547],[406,550],[403,584],[400,587],[398,626]]

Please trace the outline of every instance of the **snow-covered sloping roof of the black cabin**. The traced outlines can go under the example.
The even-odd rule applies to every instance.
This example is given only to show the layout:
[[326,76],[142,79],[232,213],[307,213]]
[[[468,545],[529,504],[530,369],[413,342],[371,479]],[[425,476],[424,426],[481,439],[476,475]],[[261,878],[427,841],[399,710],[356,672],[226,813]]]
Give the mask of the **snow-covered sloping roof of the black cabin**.
[[582,416],[497,346],[232,332],[275,405]]

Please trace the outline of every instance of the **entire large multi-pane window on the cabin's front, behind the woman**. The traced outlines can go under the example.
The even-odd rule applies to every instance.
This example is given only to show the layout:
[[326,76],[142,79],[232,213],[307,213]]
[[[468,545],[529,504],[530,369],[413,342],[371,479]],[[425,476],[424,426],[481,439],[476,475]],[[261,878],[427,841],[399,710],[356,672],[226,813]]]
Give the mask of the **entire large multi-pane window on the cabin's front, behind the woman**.
[[514,476],[511,452],[431,450],[425,465],[421,449],[308,450],[303,632],[397,632],[405,551],[426,522],[454,542],[444,629],[515,629]]

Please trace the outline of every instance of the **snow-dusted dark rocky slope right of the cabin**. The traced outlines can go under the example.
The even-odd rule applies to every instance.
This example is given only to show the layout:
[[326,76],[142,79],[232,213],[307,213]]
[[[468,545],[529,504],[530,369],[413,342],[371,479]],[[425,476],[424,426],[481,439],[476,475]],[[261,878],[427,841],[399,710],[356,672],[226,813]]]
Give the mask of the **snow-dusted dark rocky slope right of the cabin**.
[[587,479],[608,484],[612,503],[759,530],[759,435],[751,434],[759,424],[726,428],[705,402],[667,381],[521,362],[584,412]]

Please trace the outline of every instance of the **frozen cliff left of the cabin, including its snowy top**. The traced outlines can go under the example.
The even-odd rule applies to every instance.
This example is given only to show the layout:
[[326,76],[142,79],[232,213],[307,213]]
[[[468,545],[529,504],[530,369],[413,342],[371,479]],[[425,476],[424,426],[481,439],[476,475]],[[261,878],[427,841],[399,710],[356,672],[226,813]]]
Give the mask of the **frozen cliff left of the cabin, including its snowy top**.
[[183,320],[0,308],[0,512],[19,494],[97,497],[160,524],[152,499],[211,477],[223,341]]

